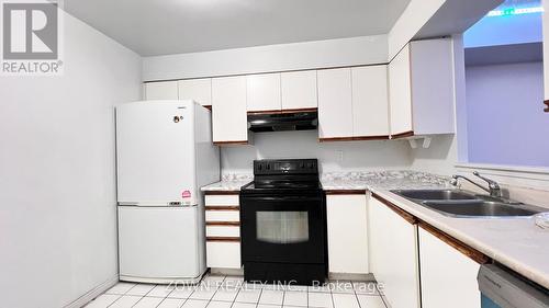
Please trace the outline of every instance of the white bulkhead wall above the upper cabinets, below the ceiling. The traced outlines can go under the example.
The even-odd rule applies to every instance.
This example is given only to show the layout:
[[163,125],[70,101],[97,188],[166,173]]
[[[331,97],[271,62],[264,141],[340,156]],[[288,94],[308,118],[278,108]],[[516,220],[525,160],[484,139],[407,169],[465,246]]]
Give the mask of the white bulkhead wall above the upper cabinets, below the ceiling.
[[386,35],[376,35],[145,57],[143,80],[382,64],[386,55]]

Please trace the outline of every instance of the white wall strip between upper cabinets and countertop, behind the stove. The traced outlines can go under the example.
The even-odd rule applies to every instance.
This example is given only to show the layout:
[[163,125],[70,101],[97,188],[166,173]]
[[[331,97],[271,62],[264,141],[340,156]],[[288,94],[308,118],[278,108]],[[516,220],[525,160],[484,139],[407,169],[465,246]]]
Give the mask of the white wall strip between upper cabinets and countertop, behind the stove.
[[411,163],[407,141],[318,142],[316,130],[256,133],[253,146],[221,150],[223,173],[251,173],[254,159],[274,158],[317,158],[323,172],[407,169]]

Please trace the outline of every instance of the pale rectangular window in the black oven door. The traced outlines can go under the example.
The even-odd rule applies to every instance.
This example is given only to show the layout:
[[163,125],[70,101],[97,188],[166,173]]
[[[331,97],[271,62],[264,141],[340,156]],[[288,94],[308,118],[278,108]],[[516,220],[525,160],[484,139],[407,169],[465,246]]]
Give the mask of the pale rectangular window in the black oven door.
[[307,212],[256,213],[257,240],[268,243],[300,243],[309,241]]

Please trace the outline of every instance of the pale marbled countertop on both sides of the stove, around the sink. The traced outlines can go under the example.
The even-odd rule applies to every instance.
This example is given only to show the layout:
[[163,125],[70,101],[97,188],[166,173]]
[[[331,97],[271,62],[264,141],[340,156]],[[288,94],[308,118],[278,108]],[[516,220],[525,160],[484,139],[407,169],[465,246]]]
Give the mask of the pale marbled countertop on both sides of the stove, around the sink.
[[[202,191],[239,191],[251,175],[227,175]],[[533,218],[455,218],[425,208],[391,190],[448,187],[448,178],[415,171],[325,173],[329,191],[370,191],[523,276],[549,288],[549,230]]]

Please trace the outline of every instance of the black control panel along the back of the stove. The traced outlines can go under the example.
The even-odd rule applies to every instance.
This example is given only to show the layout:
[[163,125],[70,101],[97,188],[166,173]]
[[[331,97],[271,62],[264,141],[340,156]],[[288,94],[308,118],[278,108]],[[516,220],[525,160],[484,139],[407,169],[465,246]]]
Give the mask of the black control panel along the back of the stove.
[[317,159],[254,160],[254,174],[318,174]]

